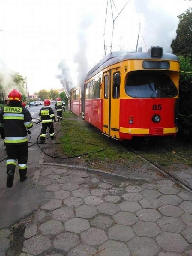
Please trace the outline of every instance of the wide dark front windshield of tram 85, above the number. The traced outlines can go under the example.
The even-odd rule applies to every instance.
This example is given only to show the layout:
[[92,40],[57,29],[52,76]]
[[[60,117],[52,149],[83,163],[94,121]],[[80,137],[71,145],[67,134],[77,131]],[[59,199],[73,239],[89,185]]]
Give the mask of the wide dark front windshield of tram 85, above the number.
[[128,76],[125,92],[134,98],[173,98],[178,90],[167,74],[140,71]]

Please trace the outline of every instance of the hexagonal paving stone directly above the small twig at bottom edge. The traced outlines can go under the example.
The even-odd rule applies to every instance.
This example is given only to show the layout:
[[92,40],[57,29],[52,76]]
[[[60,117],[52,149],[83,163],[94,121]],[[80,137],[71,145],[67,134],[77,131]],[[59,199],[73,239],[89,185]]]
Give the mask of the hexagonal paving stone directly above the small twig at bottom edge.
[[100,245],[106,242],[108,236],[105,231],[96,227],[91,227],[81,233],[81,241],[85,245]]

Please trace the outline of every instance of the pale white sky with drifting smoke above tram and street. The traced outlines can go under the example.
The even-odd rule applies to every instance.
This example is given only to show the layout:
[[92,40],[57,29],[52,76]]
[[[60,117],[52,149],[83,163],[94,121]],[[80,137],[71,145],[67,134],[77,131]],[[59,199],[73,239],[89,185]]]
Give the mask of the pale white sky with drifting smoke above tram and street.
[[108,0],[108,7],[107,0],[1,0],[0,73],[6,67],[27,77],[29,94],[62,84],[69,91],[104,57],[104,31],[110,53],[121,10],[112,51],[134,51],[140,23],[138,47],[171,52],[177,15],[190,6],[187,0]]

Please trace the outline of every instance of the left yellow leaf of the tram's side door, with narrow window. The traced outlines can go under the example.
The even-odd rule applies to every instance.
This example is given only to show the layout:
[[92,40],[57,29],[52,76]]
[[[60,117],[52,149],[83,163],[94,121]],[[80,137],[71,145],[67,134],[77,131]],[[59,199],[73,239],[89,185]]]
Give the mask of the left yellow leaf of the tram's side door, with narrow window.
[[110,135],[110,122],[109,122],[109,114],[110,114],[110,72],[104,72],[104,97],[103,97],[103,132],[104,134]]

